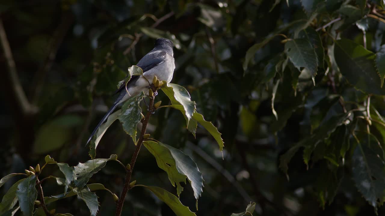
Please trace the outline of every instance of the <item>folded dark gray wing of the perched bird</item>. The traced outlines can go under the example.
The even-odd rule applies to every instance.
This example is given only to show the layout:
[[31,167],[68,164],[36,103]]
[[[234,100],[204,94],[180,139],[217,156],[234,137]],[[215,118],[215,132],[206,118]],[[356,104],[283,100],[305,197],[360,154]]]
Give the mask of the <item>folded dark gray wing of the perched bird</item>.
[[[147,53],[136,66],[142,68],[143,73],[150,70],[151,68],[163,63],[166,60],[167,53],[164,51],[152,51]],[[128,76],[128,75],[127,75]],[[126,76],[126,78],[127,78]],[[139,79],[139,76],[132,76],[131,79],[128,81],[127,86],[129,86],[131,83],[136,83],[136,81]],[[114,95],[122,89],[126,88],[126,82],[124,82],[118,90],[115,91]],[[128,87],[127,87],[128,88]]]

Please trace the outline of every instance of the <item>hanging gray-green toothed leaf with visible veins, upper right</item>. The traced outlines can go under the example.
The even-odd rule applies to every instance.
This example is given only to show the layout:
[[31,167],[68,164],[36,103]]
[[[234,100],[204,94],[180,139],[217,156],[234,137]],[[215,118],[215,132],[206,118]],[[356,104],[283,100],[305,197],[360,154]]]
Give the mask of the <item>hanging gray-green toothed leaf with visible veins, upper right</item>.
[[286,55],[298,70],[301,67],[308,69],[314,77],[317,74],[317,54],[307,39],[294,39],[285,44]]

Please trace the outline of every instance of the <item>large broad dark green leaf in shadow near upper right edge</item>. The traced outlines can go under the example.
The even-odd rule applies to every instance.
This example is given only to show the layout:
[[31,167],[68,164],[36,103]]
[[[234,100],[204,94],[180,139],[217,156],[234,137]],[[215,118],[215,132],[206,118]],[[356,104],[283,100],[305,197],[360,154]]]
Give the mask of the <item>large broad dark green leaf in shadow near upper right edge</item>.
[[352,40],[341,39],[335,44],[335,60],[346,80],[365,93],[385,95],[375,68],[376,55]]

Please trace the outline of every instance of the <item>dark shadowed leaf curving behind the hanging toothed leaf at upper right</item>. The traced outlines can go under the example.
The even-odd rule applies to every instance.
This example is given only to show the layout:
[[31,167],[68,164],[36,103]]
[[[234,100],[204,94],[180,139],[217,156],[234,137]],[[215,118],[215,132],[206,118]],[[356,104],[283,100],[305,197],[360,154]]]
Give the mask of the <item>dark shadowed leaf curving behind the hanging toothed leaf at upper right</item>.
[[304,39],[307,39],[308,41],[310,41],[311,46],[313,47],[313,49],[315,50],[315,52],[317,54],[317,61],[318,61],[317,65],[322,67],[324,56],[325,56],[325,51],[323,49],[322,40],[321,40],[320,35],[316,32],[316,30],[314,28],[308,27],[308,28],[302,30],[299,33],[298,37],[304,38]]

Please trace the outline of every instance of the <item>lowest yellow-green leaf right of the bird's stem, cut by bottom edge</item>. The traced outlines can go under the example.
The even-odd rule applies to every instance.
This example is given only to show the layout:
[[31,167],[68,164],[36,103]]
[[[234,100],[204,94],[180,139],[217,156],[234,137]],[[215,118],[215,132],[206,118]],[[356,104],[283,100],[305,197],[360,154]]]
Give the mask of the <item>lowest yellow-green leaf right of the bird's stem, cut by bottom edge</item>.
[[187,206],[184,206],[181,201],[172,193],[166,191],[163,188],[159,187],[151,187],[137,184],[136,186],[142,186],[149,189],[152,193],[154,193],[159,199],[161,199],[164,203],[169,206],[172,211],[176,214],[176,216],[196,216]]

